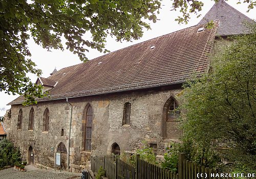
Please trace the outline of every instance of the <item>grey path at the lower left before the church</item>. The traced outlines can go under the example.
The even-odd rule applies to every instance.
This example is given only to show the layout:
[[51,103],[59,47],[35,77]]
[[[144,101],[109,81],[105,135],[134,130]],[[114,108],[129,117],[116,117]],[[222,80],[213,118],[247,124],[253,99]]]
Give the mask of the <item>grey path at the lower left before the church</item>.
[[[26,168],[25,168],[26,169]],[[75,177],[77,176],[77,177]],[[12,168],[0,170],[1,179],[78,179],[81,178],[79,173],[62,172],[54,170],[35,169],[30,171],[16,171]]]

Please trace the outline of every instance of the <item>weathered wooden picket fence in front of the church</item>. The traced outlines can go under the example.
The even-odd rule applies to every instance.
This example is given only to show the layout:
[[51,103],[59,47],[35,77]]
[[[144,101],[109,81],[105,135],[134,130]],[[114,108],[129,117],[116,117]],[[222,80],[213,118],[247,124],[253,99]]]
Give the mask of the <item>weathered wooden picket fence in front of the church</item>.
[[[185,160],[185,154],[179,153],[178,171],[170,172],[157,165],[150,164],[136,155],[135,167],[118,159],[115,155],[92,156],[91,170],[97,172],[102,166],[109,179],[198,179],[228,178],[218,176],[217,171]],[[217,174],[217,175],[216,175]]]

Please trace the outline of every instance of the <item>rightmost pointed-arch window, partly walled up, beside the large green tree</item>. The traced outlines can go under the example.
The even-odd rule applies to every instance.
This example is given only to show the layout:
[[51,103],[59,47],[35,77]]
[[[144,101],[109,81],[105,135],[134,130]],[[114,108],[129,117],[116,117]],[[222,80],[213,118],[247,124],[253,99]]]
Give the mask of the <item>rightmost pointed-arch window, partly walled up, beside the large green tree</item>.
[[179,105],[174,97],[170,97],[163,107],[162,118],[162,137],[169,139],[179,138],[180,130],[178,129],[177,119],[180,116]]

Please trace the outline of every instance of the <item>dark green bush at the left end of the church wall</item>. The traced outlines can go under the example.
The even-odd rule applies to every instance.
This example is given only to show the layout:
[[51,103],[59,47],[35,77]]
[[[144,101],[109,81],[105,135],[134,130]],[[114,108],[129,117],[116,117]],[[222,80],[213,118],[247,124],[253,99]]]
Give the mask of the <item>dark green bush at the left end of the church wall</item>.
[[20,152],[12,142],[4,139],[0,142],[0,168],[20,161]]

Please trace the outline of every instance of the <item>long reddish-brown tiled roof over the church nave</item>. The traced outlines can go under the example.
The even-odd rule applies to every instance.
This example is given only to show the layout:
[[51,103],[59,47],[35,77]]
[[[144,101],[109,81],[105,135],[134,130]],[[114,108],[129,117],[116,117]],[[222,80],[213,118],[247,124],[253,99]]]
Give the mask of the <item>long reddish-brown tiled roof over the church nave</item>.
[[[38,101],[170,85],[202,75],[217,24],[200,32],[204,25],[186,28],[61,69],[48,77],[58,81],[49,91],[51,97]],[[22,101],[19,97],[9,104]]]

